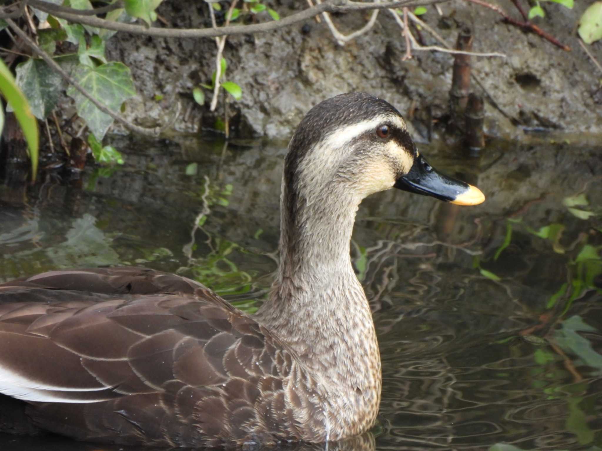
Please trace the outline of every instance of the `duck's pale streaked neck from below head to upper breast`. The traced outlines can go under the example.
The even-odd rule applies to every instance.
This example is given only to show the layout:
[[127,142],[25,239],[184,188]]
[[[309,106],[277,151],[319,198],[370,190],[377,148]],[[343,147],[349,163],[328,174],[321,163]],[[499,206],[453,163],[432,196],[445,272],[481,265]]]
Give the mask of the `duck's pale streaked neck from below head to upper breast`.
[[257,318],[327,382],[379,397],[374,323],[349,255],[361,199],[337,186],[314,197],[282,188],[280,266]]

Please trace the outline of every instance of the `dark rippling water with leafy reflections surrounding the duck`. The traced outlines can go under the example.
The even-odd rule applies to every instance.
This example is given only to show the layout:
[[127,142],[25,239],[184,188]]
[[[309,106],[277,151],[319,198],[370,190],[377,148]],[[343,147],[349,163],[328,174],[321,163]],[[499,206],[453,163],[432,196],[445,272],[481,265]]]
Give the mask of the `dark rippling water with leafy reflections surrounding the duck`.
[[[0,280],[141,265],[254,311],[277,265],[283,146],[126,143],[82,182],[9,170]],[[342,449],[602,449],[600,147],[421,147],[485,192],[458,207],[397,190],[362,203],[352,259],[379,334],[379,422]],[[191,165],[196,163],[196,165]],[[0,435],[1,449],[120,449]],[[329,449],[337,449],[330,447]]]

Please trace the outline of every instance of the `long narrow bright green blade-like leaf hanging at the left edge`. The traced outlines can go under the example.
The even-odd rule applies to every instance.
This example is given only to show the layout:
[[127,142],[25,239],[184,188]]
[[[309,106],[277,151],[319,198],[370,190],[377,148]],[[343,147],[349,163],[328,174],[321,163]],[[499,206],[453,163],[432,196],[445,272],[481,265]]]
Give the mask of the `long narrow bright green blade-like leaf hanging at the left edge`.
[[2,60],[0,60],[0,92],[8,104],[13,107],[14,115],[23,129],[23,135],[25,135],[27,149],[29,150],[29,160],[31,161],[31,178],[36,180],[39,146],[37,120],[31,114],[27,99],[17,86],[13,74],[10,73],[10,69]]

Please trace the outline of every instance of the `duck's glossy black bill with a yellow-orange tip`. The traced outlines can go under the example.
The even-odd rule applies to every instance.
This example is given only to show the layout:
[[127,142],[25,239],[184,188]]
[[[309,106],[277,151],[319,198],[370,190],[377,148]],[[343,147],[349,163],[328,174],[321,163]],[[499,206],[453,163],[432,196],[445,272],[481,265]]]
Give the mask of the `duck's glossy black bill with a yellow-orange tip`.
[[477,205],[485,200],[479,188],[441,174],[422,155],[417,156],[409,173],[399,177],[394,186],[458,205]]

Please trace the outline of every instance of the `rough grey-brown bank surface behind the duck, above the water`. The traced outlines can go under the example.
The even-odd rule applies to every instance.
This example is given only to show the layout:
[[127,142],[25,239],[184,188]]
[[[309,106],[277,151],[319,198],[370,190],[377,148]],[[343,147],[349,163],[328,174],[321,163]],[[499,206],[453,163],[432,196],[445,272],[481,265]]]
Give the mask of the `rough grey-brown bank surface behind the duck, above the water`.
[[[223,2],[224,10],[227,2]],[[270,4],[270,2],[268,2]],[[520,19],[507,0],[498,4]],[[281,16],[300,8],[302,1],[275,1]],[[449,44],[462,26],[473,29],[473,50],[503,52],[507,58],[474,58],[473,73],[498,108],[486,102],[486,131],[504,138],[520,136],[524,127],[566,132],[602,133],[600,73],[577,41],[576,23],[588,2],[576,2],[573,10],[559,4],[542,4],[545,19],[536,18],[546,31],[571,47],[565,52],[541,37],[500,22],[492,10],[468,2],[441,4],[421,16]],[[170,26],[210,26],[203,2],[164,2],[159,10]],[[259,16],[262,21],[270,20]],[[341,32],[348,33],[367,22],[370,13],[334,14]],[[439,45],[421,31],[425,45]],[[589,46],[602,61],[602,43]],[[194,103],[192,90],[211,79],[215,68],[214,39],[181,40],[117,34],[108,43],[110,57],[132,69],[138,97],[127,103],[125,115],[143,126],[164,124],[173,117],[173,106],[182,112],[173,124],[178,132],[197,132],[211,127],[216,118],[209,112],[212,93],[205,106]],[[380,11],[373,29],[339,46],[326,23],[308,20],[275,32],[231,36],[224,56],[226,79],[239,84],[243,97],[229,103],[232,133],[239,137],[288,138],[311,106],[346,91],[368,91],[383,97],[408,116],[424,135],[427,108],[435,120],[445,120],[453,57],[440,52],[414,51],[402,61],[405,40],[389,11]],[[472,89],[482,94],[474,84]],[[163,98],[156,100],[155,95]],[[225,97],[225,95],[224,95]],[[217,114],[223,114],[223,97]],[[503,113],[501,111],[503,111]],[[522,126],[515,126],[517,123]],[[435,129],[437,132],[437,129]],[[416,133],[415,133],[416,134]],[[420,140],[420,137],[418,137]]]

